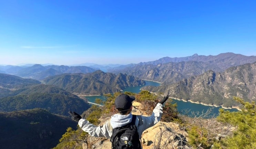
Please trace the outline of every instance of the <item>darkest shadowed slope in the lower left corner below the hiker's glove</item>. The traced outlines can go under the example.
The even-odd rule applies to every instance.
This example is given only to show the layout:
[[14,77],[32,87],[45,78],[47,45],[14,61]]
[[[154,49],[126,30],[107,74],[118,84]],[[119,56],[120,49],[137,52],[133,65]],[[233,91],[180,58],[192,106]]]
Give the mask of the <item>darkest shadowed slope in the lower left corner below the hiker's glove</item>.
[[50,149],[68,127],[76,128],[77,122],[46,110],[0,112],[0,148]]

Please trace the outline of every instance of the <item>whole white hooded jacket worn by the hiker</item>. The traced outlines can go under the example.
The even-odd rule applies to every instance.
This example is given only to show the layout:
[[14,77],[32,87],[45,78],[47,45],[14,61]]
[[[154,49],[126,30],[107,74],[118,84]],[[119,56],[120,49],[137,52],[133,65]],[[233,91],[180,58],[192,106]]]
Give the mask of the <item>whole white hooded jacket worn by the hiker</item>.
[[[157,103],[151,116],[137,115],[135,125],[137,126],[140,138],[144,130],[154,126],[157,122],[160,121],[162,114],[163,105],[161,103]],[[78,125],[80,126],[80,128],[82,128],[83,131],[89,133],[89,135],[91,136],[106,137],[110,139],[112,136],[113,128],[121,127],[130,123],[132,121],[131,117],[131,113],[128,115],[115,114],[111,116],[110,121],[107,121],[102,126],[95,126],[86,119],[80,119]]]

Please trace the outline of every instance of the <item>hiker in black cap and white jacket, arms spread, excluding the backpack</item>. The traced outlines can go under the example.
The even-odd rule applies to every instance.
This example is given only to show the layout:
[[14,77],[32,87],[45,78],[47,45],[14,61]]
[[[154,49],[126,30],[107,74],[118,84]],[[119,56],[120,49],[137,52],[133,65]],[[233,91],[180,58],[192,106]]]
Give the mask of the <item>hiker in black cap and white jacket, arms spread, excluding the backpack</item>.
[[[163,114],[163,104],[169,98],[167,94],[164,96],[162,100],[160,100],[155,106],[151,116],[142,116],[137,115],[135,120],[135,126],[137,127],[137,131],[139,134],[139,138],[141,138],[142,133],[147,128],[154,126],[158,123]],[[125,126],[132,121],[132,102],[135,100],[134,96],[129,96],[126,94],[120,94],[115,99],[115,107],[119,114],[114,114],[111,116],[110,121],[107,121],[102,126],[95,126],[91,124],[86,119],[83,119],[79,114],[75,112],[69,112],[72,118],[75,121],[78,121],[79,127],[87,132],[90,136],[94,137],[106,137],[111,138],[112,130],[115,128],[119,128]]]

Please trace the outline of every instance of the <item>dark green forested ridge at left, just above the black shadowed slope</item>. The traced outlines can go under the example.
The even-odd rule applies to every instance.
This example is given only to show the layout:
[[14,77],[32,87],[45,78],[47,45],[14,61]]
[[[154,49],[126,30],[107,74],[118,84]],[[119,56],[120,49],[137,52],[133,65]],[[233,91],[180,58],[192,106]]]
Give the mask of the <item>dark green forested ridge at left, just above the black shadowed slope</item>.
[[[51,90],[56,90],[56,92],[50,93],[48,91],[42,91],[44,86],[47,86],[45,90],[53,88]],[[34,88],[38,88],[40,91],[30,92],[31,90],[34,90]],[[40,84],[22,91],[17,95],[0,98],[0,111],[11,112],[33,108],[44,108],[54,114],[69,116],[68,112],[71,110],[83,112],[90,107],[88,103],[78,96],[59,90],[61,89]]]

